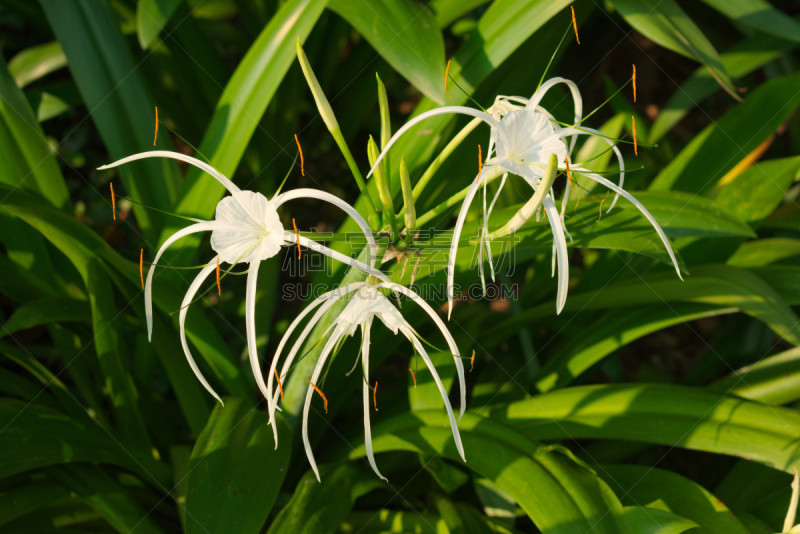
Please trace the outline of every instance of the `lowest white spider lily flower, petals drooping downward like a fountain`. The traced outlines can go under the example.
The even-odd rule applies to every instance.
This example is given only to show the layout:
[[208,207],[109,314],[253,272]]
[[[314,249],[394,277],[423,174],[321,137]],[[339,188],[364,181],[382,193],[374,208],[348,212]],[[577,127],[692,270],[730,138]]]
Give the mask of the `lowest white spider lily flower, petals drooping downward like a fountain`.
[[[280,391],[275,391],[275,380],[274,377],[279,377],[279,384],[278,387],[282,388],[282,383],[285,383],[287,374],[289,370],[292,368],[292,364],[294,363],[298,352],[300,351],[303,343],[308,338],[308,335],[311,333],[311,330],[314,326],[320,321],[322,316],[333,306],[335,302],[340,299],[346,298],[349,296],[349,301],[345,306],[344,310],[336,316],[333,320],[333,323],[330,325],[327,331],[327,340],[325,341],[325,345],[320,352],[319,359],[314,367],[313,372],[311,373],[310,377],[310,386],[306,393],[305,405],[303,407],[303,446],[305,447],[306,456],[308,457],[308,461],[311,464],[311,468],[314,470],[314,473],[317,476],[317,480],[320,480],[319,477],[319,470],[317,469],[316,461],[314,460],[314,454],[311,451],[311,444],[308,440],[308,413],[309,408],[311,405],[311,399],[314,394],[314,385],[317,383],[319,379],[320,373],[325,366],[328,357],[330,356],[331,352],[334,350],[335,347],[339,346],[342,340],[344,340],[348,336],[353,336],[356,330],[360,327],[361,328],[361,366],[363,372],[362,378],[362,397],[363,397],[363,408],[364,408],[364,446],[367,452],[367,459],[369,461],[370,466],[375,471],[375,473],[383,480],[386,480],[380,471],[378,470],[378,466],[375,464],[375,458],[373,455],[372,450],[372,432],[370,430],[370,406],[369,406],[369,351],[370,351],[370,329],[372,327],[372,322],[375,318],[378,318],[389,330],[391,330],[394,334],[400,333],[406,339],[411,342],[411,345],[414,347],[414,350],[422,357],[422,360],[425,362],[425,365],[428,367],[428,370],[433,377],[436,386],[439,389],[439,393],[442,396],[442,402],[444,403],[445,410],[447,411],[447,416],[450,419],[450,429],[453,432],[453,440],[455,441],[456,449],[458,453],[461,455],[461,458],[466,461],[464,456],[464,447],[461,443],[461,435],[458,431],[458,425],[456,423],[456,418],[453,414],[453,408],[450,405],[450,400],[447,396],[447,391],[442,384],[441,379],[439,378],[436,369],[433,366],[430,358],[428,357],[428,353],[425,350],[422,342],[420,341],[419,336],[411,327],[411,325],[406,321],[403,316],[400,314],[400,311],[395,307],[391,301],[383,295],[379,290],[380,289],[388,289],[397,293],[401,293],[408,297],[409,299],[413,300],[417,303],[428,316],[433,320],[436,324],[436,327],[442,333],[445,341],[447,342],[448,349],[453,354],[453,361],[456,366],[456,373],[458,377],[458,381],[460,384],[460,401],[461,401],[461,408],[459,419],[461,416],[464,415],[465,409],[465,402],[466,402],[466,387],[464,383],[464,365],[461,362],[461,355],[458,351],[458,347],[456,346],[455,340],[453,336],[450,334],[447,326],[445,325],[444,321],[438,316],[436,311],[431,308],[431,306],[425,302],[422,297],[420,297],[414,291],[406,288],[405,286],[401,286],[391,281],[385,281],[378,284],[370,284],[369,282],[355,282],[352,284],[348,284],[344,287],[334,289],[321,295],[317,299],[315,299],[311,304],[309,304],[303,312],[295,318],[289,328],[286,330],[286,333],[283,335],[280,343],[278,344],[278,348],[275,351],[275,356],[272,359],[272,365],[269,370],[268,375],[268,384],[267,390],[271,393],[267,397],[267,404],[268,404],[268,412],[269,412],[269,419],[270,424],[272,425],[272,432],[275,437],[275,448],[278,447],[278,429],[275,424],[275,411],[278,409],[278,398],[280,395]],[[314,315],[306,324],[305,328],[303,328],[300,335],[297,337],[294,345],[292,346],[291,350],[289,351],[288,355],[283,361],[283,365],[281,366],[280,374],[278,374],[278,364],[283,353],[283,350],[286,348],[289,339],[291,338],[294,331],[299,326],[300,322],[312,311],[316,310]],[[262,377],[257,377],[257,380],[263,380]]]

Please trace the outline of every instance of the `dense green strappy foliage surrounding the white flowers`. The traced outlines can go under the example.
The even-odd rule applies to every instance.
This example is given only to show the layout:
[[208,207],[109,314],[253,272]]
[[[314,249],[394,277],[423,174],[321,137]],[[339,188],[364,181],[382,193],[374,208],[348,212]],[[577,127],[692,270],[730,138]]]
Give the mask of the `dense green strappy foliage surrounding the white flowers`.
[[[505,256],[514,268],[507,262],[498,279],[516,284],[518,298],[462,303],[449,323],[462,352],[476,351],[460,423],[467,463],[432,382],[420,372],[414,388],[408,349],[376,327],[374,445],[390,483],[364,461],[359,381],[344,376],[357,354],[351,342],[327,375],[330,411],[312,414],[318,484],[292,439],[302,379],[287,384],[274,449],[246,361],[241,278],[226,278],[222,296],[209,293],[187,322],[224,408],[196,382],[178,340],[175,311],[192,271],[159,275],[146,338],[139,250],[152,258],[183,223],[139,203],[207,219],[223,189],[172,161],[94,169],[152,149],[158,105],[183,138],[162,129],[159,148],[190,153],[191,143],[268,196],[291,169],[286,188],[325,189],[370,215],[317,113],[296,40],[365,172],[366,140],[381,129],[376,72],[395,130],[412,113],[467,103],[465,92],[484,106],[497,94],[530,95],[568,27],[569,3],[0,5],[0,532],[781,530],[788,473],[800,465],[800,11],[777,0],[574,7],[581,44],[568,39],[550,75],[575,80],[593,109],[637,65],[637,102],[620,93],[592,126],[630,140],[636,117],[639,157],[622,145],[636,169],[626,188],[672,239],[685,280],[635,209],[620,201],[599,217],[603,194],[579,181],[564,312],[555,315],[552,243],[540,222],[520,233]],[[449,87],[452,98],[446,58],[461,88]],[[570,115],[562,95],[545,105]],[[462,123],[432,119],[392,149],[396,209],[399,155],[419,180]],[[295,132],[305,176],[292,169]],[[418,215],[467,185],[486,141],[480,128],[467,138]],[[586,142],[578,160],[599,149]],[[593,169],[613,172],[614,162],[605,155]],[[116,221],[109,180],[135,201],[118,201]],[[512,181],[497,219],[525,192]],[[449,227],[448,213],[430,226]],[[353,229],[311,203],[291,216],[302,228]],[[459,255],[465,284],[477,280],[471,248],[465,241]],[[165,264],[197,264],[207,249],[186,239]],[[286,272],[292,258],[287,251],[261,269],[267,361],[303,307],[282,299],[298,283]],[[411,268],[384,266],[410,281]],[[441,287],[441,265],[421,262],[417,284]],[[415,327],[433,335],[423,320]],[[451,383],[446,355],[438,362]]]

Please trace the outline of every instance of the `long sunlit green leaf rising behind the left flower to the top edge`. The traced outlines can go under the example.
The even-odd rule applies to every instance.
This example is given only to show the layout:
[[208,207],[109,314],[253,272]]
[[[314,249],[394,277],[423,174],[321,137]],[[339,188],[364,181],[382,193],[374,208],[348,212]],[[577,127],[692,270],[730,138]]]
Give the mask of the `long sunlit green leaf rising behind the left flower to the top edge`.
[[[284,3],[228,80],[200,143],[200,152],[222,174],[235,173],[267,105],[294,61],[297,39],[305,40],[324,9],[323,0]],[[210,218],[223,192],[216,180],[190,169],[177,211]]]

